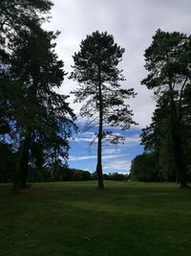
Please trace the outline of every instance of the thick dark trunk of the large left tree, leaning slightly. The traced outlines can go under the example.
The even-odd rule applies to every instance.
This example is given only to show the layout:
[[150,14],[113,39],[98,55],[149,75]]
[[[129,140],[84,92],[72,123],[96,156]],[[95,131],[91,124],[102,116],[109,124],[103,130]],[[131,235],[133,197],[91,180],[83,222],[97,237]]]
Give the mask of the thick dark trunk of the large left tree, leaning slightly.
[[20,162],[18,166],[18,173],[15,179],[12,191],[17,191],[19,188],[27,187],[27,176],[29,171],[29,151],[31,142],[31,131],[27,131],[26,137],[23,142]]

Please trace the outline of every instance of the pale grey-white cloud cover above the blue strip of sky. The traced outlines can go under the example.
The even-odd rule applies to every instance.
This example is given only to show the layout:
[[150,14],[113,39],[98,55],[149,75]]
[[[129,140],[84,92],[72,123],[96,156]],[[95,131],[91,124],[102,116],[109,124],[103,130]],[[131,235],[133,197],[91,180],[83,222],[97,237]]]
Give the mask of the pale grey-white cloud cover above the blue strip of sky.
[[[108,31],[117,43],[126,49],[120,63],[127,81],[125,86],[134,87],[136,99],[130,101],[139,128],[151,121],[155,108],[152,92],[140,81],[145,78],[144,50],[151,44],[152,35],[161,28],[165,31],[180,31],[190,34],[190,0],[54,0],[53,19],[48,29],[61,31],[56,51],[65,62],[66,71],[71,71],[74,52],[86,35],[93,31]],[[64,81],[60,89],[69,94],[76,87],[74,81]],[[72,100],[71,100],[72,101]],[[78,113],[79,105],[74,105]]]

